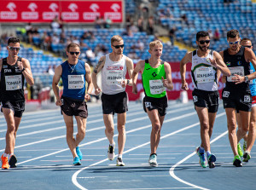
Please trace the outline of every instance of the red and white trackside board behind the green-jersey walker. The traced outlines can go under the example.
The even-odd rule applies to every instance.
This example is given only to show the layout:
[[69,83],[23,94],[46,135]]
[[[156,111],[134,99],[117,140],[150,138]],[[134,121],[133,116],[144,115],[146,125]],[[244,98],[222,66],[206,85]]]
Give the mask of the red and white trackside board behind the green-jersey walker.
[[[173,89],[172,91],[167,89],[167,95],[169,100],[177,100],[180,98],[181,91],[183,91],[183,89],[181,89],[182,83],[181,83],[181,77],[179,72],[179,62],[171,62],[170,65],[172,68]],[[188,90],[189,100],[192,100],[192,91],[194,89],[194,86],[193,86],[192,77],[191,77],[191,63],[187,64],[186,82],[189,85],[189,90]],[[221,90],[223,88],[224,88],[224,83],[218,82],[218,91],[220,95],[221,95]],[[140,97],[140,94],[144,91],[141,72],[139,72],[139,76],[137,80],[137,90],[138,90],[137,95],[134,95],[132,93],[131,86],[126,87],[126,92],[129,95],[130,101],[137,101],[137,99],[139,99]]]

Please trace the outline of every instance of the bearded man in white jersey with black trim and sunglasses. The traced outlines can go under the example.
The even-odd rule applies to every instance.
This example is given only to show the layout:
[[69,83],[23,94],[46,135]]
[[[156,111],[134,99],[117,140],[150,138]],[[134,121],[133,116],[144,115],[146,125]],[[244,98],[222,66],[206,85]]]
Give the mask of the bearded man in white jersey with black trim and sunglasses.
[[192,95],[201,124],[201,147],[197,147],[195,152],[200,158],[201,167],[206,168],[209,164],[210,168],[214,168],[216,157],[211,153],[210,138],[218,112],[218,78],[221,72],[224,76],[230,76],[230,71],[218,52],[209,49],[210,37],[208,32],[197,32],[196,44],[199,49],[187,53],[180,62],[182,89],[189,89],[185,76],[186,64],[191,62],[191,75],[195,87]]

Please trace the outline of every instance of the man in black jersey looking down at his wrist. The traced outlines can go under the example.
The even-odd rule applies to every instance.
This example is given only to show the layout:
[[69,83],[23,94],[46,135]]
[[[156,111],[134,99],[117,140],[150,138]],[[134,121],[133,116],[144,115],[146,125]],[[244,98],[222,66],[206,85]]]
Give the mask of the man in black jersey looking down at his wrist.
[[[222,97],[227,115],[230,147],[234,153],[233,164],[241,167],[241,158],[237,151],[237,141],[243,138],[249,129],[252,109],[252,95],[249,80],[256,78],[256,72],[250,74],[250,62],[256,68],[256,57],[252,49],[242,47],[240,35],[237,30],[227,33],[229,49],[220,52],[225,64],[229,67],[231,76],[227,78]],[[240,113],[241,130],[236,135],[236,110]]]

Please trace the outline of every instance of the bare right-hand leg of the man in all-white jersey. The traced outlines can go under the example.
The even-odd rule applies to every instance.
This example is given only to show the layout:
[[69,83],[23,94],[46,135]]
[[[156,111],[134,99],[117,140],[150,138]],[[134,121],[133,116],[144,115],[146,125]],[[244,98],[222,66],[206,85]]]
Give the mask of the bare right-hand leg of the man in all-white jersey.
[[125,122],[126,122],[126,112],[117,114],[117,129],[119,131],[118,143],[119,143],[119,154],[123,154],[126,141],[125,133]]

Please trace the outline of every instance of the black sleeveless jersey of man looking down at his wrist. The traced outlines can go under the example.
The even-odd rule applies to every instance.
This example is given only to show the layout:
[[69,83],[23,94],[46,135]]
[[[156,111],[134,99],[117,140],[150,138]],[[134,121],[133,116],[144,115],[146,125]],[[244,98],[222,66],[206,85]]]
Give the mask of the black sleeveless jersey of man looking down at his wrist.
[[245,91],[249,89],[249,82],[247,83],[234,83],[232,79],[235,74],[246,76],[250,74],[250,63],[244,58],[244,47],[241,47],[236,55],[230,55],[228,49],[224,50],[224,63],[228,66],[231,76],[227,77],[226,88],[232,91]]

